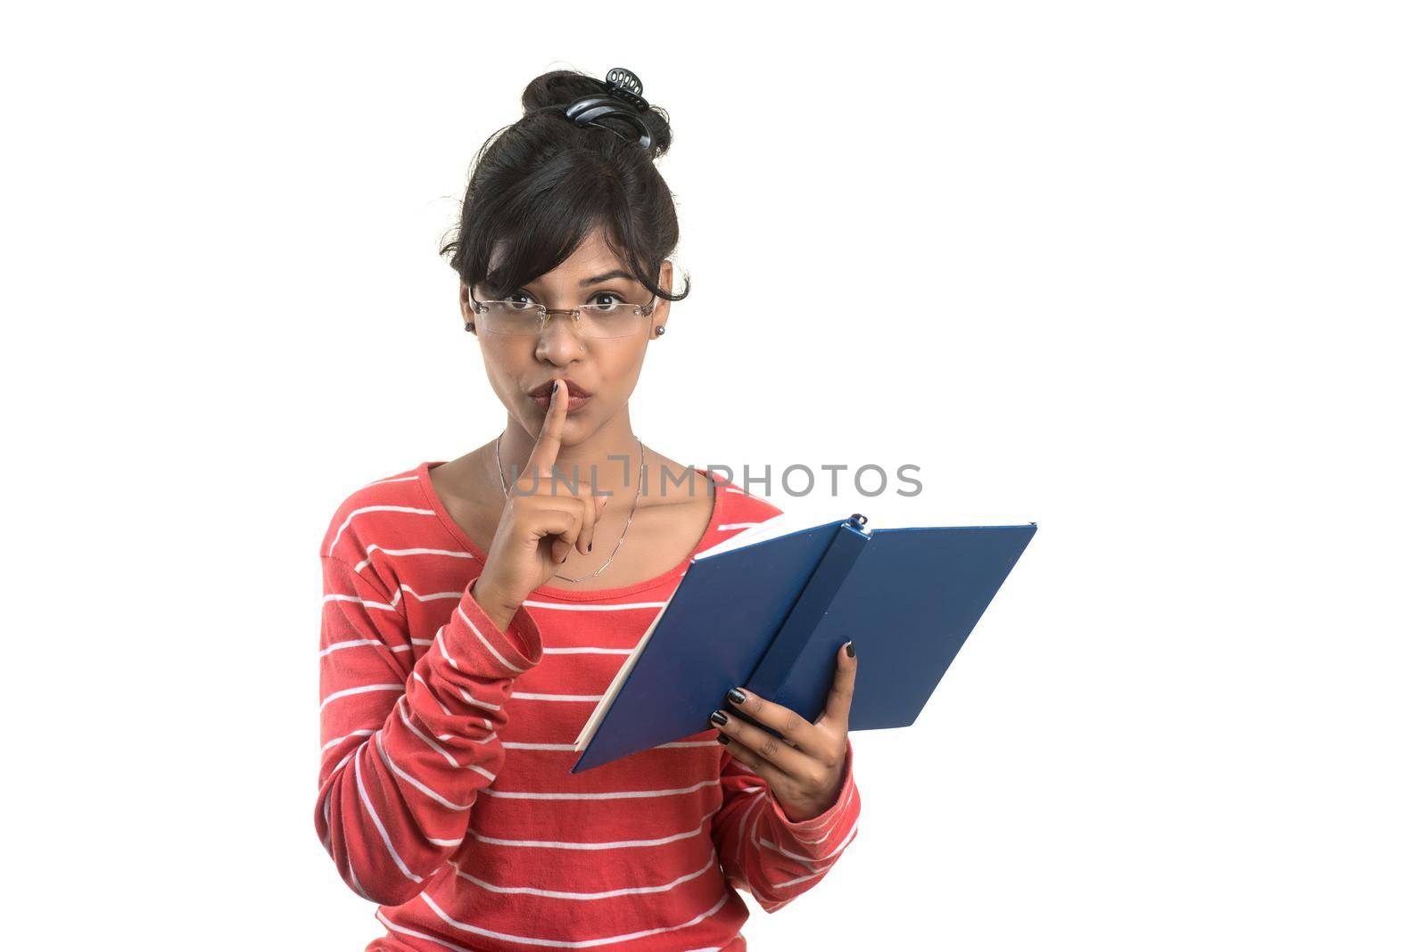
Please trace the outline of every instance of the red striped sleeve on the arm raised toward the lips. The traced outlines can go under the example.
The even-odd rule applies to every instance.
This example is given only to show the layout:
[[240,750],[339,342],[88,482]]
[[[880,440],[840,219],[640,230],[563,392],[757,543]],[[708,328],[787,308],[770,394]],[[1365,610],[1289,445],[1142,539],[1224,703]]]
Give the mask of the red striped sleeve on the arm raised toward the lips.
[[[317,834],[362,898],[415,896],[465,837],[499,772],[505,701],[539,663],[535,620],[501,631],[467,586],[412,663],[404,591],[323,556]],[[454,594],[454,593],[452,593]]]

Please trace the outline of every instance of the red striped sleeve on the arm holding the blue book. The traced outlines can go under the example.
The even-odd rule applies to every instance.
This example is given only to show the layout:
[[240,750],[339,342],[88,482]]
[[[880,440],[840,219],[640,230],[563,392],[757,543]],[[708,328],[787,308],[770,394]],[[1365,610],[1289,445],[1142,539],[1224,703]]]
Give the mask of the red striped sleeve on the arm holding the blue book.
[[862,800],[852,778],[852,740],[838,800],[816,817],[792,821],[762,777],[725,752],[723,805],[714,815],[714,844],[723,874],[768,912],[812,889],[858,835]]

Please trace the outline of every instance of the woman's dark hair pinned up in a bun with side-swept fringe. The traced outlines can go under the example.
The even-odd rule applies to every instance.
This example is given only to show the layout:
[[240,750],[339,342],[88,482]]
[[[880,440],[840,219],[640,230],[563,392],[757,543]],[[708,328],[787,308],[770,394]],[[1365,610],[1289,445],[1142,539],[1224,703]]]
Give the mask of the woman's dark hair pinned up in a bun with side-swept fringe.
[[[521,94],[525,115],[497,130],[477,152],[461,222],[440,254],[451,254],[462,284],[485,285],[504,298],[557,268],[604,227],[611,252],[639,284],[682,301],[688,275],[684,294],[659,288],[659,265],[679,241],[674,195],[654,167],[669,150],[669,115],[654,105],[639,114],[654,140],[645,150],[628,123],[621,133],[632,133],[632,141],[565,118],[565,107],[586,95],[608,95],[605,84],[572,70],[531,80]],[[502,258],[492,269],[498,247]]]

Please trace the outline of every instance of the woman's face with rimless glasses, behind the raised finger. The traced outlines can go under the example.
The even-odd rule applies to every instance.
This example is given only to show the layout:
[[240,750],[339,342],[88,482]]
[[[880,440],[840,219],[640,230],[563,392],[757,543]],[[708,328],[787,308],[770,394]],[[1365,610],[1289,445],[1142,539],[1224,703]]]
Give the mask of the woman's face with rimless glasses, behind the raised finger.
[[[674,267],[665,261],[659,268],[659,288],[672,285]],[[598,281],[596,281],[598,278]],[[491,299],[489,288],[475,288],[475,299]],[[515,301],[542,304],[547,308],[574,308],[581,304],[649,304],[648,289],[628,275],[624,264],[611,254],[599,231],[588,238],[558,268],[531,281],[511,295]],[[557,314],[545,322],[539,336],[485,333],[479,316],[471,311],[465,285],[461,285],[461,311],[475,322],[475,336],[481,343],[485,373],[491,388],[525,428],[531,438],[539,433],[549,408],[549,382],[571,385],[571,400],[561,443],[578,445],[598,432],[609,419],[624,412],[644,366],[644,352],[655,338],[655,328],[668,321],[669,302],[655,299],[655,311],[644,318],[639,332],[626,338],[586,338],[575,329],[568,314]],[[544,388],[545,398],[532,390]]]

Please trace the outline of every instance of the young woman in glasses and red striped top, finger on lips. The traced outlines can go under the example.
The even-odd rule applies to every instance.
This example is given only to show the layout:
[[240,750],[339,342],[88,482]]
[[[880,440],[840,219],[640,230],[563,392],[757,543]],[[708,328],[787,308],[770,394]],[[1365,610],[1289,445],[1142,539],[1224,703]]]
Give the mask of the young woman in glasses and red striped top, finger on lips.
[[569,772],[692,556],[779,512],[631,426],[688,296],[641,91],[547,73],[481,148],[442,252],[505,429],[362,486],[323,539],[315,824],[380,904],[368,951],[745,949],[735,888],[779,909],[856,837],[850,643],[816,723],[729,685],[753,723]]

